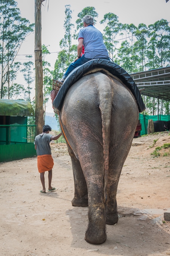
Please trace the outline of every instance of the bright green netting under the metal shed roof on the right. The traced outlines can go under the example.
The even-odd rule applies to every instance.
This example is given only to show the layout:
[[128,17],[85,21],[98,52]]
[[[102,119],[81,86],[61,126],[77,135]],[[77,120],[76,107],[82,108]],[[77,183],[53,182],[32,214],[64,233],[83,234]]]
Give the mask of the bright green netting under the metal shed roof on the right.
[[[142,125],[141,135],[147,134],[148,120],[158,121],[158,115],[156,116],[145,116],[139,113],[139,120]],[[170,115],[159,115],[159,121],[170,121]]]

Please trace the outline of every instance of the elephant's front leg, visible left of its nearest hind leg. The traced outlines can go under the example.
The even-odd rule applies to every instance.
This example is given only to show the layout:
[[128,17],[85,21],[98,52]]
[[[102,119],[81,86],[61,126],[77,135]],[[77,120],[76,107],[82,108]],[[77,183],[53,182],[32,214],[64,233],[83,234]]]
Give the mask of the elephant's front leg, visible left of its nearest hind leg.
[[88,191],[85,177],[79,160],[73,153],[70,153],[74,176],[74,198],[71,201],[73,206],[88,206]]

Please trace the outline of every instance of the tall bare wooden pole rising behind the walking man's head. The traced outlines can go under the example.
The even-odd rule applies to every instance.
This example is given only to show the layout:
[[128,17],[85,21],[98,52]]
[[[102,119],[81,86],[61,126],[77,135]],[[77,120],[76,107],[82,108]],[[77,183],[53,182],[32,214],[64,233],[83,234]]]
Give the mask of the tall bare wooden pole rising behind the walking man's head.
[[36,97],[35,119],[37,134],[42,133],[44,125],[43,109],[43,67],[41,44],[41,5],[45,0],[35,0],[35,69],[36,69]]

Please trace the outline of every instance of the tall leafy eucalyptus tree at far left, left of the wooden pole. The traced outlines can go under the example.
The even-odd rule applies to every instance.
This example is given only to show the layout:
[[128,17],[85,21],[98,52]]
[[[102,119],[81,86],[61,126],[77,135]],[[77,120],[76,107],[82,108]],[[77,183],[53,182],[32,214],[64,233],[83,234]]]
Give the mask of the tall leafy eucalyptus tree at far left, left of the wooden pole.
[[29,20],[21,17],[15,0],[0,1],[1,98],[6,82],[9,90],[10,72],[15,57],[26,36],[33,31],[33,27],[34,24],[30,24]]

